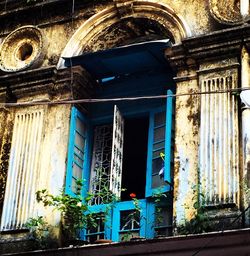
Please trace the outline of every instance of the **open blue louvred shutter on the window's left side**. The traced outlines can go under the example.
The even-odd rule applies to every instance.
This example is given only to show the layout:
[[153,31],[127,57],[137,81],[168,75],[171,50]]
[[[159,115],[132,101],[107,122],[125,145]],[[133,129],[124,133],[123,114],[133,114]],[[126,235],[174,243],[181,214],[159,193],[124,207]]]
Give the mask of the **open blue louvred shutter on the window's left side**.
[[65,193],[70,195],[74,195],[76,180],[88,180],[87,130],[87,119],[72,107],[65,182]]

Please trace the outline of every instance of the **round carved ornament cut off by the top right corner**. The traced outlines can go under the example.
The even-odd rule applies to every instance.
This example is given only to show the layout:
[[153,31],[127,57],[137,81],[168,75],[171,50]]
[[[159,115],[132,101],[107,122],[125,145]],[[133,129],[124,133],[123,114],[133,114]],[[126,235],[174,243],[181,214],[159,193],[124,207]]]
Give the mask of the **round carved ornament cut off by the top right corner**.
[[209,0],[212,16],[223,24],[236,25],[249,20],[249,0]]

